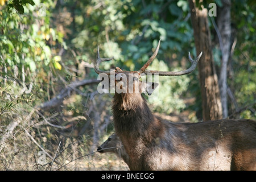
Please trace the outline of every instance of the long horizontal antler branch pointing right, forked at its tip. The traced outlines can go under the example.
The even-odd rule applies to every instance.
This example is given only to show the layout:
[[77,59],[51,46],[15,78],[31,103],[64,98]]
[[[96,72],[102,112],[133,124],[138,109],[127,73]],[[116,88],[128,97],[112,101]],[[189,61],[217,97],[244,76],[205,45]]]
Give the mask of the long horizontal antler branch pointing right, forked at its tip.
[[203,52],[200,53],[199,56],[197,56],[196,60],[194,61],[191,56],[190,52],[188,52],[188,59],[191,61],[192,65],[190,68],[184,70],[184,71],[178,71],[178,72],[162,72],[162,71],[151,71],[151,70],[146,70],[144,73],[147,74],[158,74],[159,76],[179,76],[179,75],[187,75],[188,73],[191,73],[196,69],[196,65],[202,56]]

